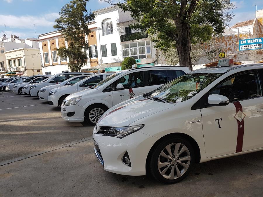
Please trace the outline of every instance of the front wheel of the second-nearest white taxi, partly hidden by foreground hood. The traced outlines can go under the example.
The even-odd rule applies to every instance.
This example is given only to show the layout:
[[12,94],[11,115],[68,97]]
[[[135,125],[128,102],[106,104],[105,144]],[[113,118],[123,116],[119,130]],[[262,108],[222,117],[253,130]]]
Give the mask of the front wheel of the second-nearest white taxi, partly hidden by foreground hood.
[[84,121],[92,126],[96,125],[98,119],[107,111],[108,108],[101,104],[90,105],[84,113]]

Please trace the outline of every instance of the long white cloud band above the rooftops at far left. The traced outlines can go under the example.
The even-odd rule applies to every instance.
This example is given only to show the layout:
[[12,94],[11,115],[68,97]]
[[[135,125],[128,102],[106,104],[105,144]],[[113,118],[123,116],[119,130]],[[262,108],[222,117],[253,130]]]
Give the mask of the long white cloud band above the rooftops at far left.
[[24,15],[1,15],[1,21],[4,21],[7,27],[10,28],[20,28],[20,29],[34,29],[32,24],[36,27],[52,27],[55,24],[55,19],[59,17],[58,13],[50,13],[39,16]]

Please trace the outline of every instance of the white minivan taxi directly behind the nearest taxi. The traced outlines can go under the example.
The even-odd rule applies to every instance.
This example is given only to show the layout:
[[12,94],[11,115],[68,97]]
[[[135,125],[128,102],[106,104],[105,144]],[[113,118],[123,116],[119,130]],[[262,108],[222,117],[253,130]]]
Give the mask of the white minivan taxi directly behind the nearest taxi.
[[153,66],[123,70],[65,98],[61,117],[65,121],[86,121],[95,125],[109,108],[133,97],[151,92],[162,84],[190,72],[187,67]]

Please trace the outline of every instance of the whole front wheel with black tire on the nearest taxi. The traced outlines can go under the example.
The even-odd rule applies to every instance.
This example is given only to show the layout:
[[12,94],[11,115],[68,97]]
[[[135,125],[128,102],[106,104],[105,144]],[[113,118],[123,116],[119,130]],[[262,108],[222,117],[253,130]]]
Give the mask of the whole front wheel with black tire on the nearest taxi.
[[148,160],[150,174],[165,184],[183,180],[189,174],[194,161],[193,147],[181,137],[162,139],[153,148]]

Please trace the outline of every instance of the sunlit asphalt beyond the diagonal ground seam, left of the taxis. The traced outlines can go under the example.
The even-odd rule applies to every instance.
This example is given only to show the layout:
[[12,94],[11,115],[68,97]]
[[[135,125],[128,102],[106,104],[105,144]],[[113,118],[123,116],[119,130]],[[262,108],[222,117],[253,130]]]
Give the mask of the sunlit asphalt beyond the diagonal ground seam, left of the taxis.
[[0,95],[0,162],[89,137],[92,130],[64,121],[60,108],[38,97]]

